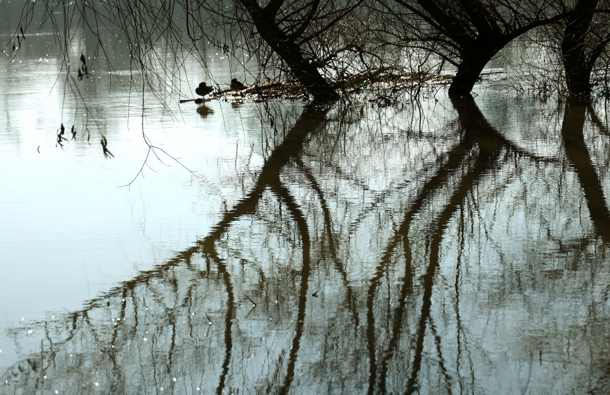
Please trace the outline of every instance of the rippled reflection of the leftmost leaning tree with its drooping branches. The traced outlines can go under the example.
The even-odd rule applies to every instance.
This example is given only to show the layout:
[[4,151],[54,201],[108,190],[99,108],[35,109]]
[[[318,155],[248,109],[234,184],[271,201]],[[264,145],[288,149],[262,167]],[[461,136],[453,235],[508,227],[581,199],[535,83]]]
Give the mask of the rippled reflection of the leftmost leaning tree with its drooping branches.
[[[197,280],[197,277],[201,276],[201,277],[205,277],[207,279],[210,279],[210,273],[213,272],[212,266],[210,265],[210,263],[213,263],[213,267],[216,268],[217,274],[213,277],[215,277],[215,279],[220,280],[217,284],[217,286],[224,286],[224,294],[226,294],[226,312],[224,313],[224,336],[223,336],[223,341],[224,341],[224,357],[222,358],[223,362],[220,366],[220,379],[218,379],[218,386],[217,386],[217,393],[224,393],[224,391],[226,390],[226,381],[228,380],[228,374],[229,374],[229,365],[231,363],[231,358],[232,358],[232,352],[234,349],[234,340],[233,340],[233,336],[234,336],[234,321],[235,321],[235,315],[237,313],[237,303],[239,301],[235,300],[235,286],[233,284],[234,279],[232,279],[232,276],[230,274],[230,269],[228,268],[228,263],[227,263],[227,259],[226,257],[220,257],[217,252],[215,251],[215,246],[214,243],[215,241],[218,241],[218,239],[221,237],[221,235],[223,235],[223,233],[226,233],[229,229],[229,227],[235,222],[238,221],[240,217],[245,216],[245,215],[254,215],[254,213],[256,213],[256,206],[257,204],[259,204],[260,200],[264,198],[264,193],[265,190],[269,190],[271,191],[271,193],[273,193],[275,196],[277,196],[279,198],[279,201],[282,202],[282,204],[285,205],[285,207],[287,207],[287,209],[289,210],[289,213],[292,215],[293,220],[296,223],[296,227],[298,229],[298,232],[300,234],[300,238],[301,238],[301,249],[303,251],[303,256],[302,256],[302,267],[300,270],[300,274],[301,274],[301,280],[300,280],[300,291],[298,293],[298,313],[296,316],[296,326],[295,326],[295,335],[293,337],[292,340],[292,347],[290,348],[290,354],[289,354],[289,358],[288,358],[288,365],[287,365],[287,372],[285,374],[285,378],[284,378],[284,383],[281,386],[279,392],[280,393],[285,393],[289,390],[290,388],[290,383],[293,380],[294,377],[294,372],[295,372],[295,363],[296,363],[296,358],[298,355],[298,350],[300,348],[300,340],[301,340],[301,336],[303,334],[303,326],[304,326],[304,322],[305,322],[305,309],[306,309],[306,302],[307,302],[307,280],[309,279],[309,273],[310,273],[310,258],[309,258],[309,249],[310,249],[310,241],[309,241],[309,230],[308,230],[308,225],[307,225],[307,221],[306,218],[303,215],[303,212],[301,212],[301,209],[298,207],[298,203],[296,202],[295,198],[292,196],[292,194],[290,193],[289,189],[287,187],[284,186],[284,184],[282,183],[281,179],[280,179],[280,174],[282,171],[282,168],[290,162],[290,160],[298,160],[298,156],[299,156],[299,152],[301,151],[301,149],[303,148],[303,143],[305,138],[307,137],[307,135],[309,135],[309,133],[316,129],[317,127],[320,126],[320,124],[323,122],[324,120],[324,115],[325,115],[326,109],[318,109],[318,108],[313,108],[308,110],[306,113],[304,113],[301,118],[299,119],[299,121],[296,122],[295,126],[292,127],[292,129],[290,129],[289,133],[287,133],[286,137],[284,138],[284,140],[282,141],[282,143],[278,146],[278,148],[276,148],[273,153],[270,155],[270,157],[267,158],[265,165],[263,166],[262,170],[260,171],[259,176],[257,177],[257,182],[255,183],[254,187],[252,188],[251,192],[249,194],[246,195],[246,197],[244,199],[242,199],[242,201],[238,202],[235,207],[227,212],[223,219],[221,219],[217,226],[212,230],[212,232],[210,232],[210,234],[204,239],[199,241],[198,243],[196,243],[193,247],[191,247],[190,249],[187,249],[185,251],[180,252],[179,254],[176,254],[176,257],[173,258],[172,260],[170,260],[170,262],[167,262],[164,265],[159,266],[157,269],[155,269],[154,271],[149,271],[149,272],[144,272],[142,275],[138,276],[136,279],[131,280],[130,282],[125,283],[123,286],[119,286],[117,288],[115,288],[114,290],[110,291],[109,294],[107,294],[104,297],[101,297],[99,300],[93,301],[91,302],[91,305],[88,308],[85,308],[84,310],[82,310],[79,313],[74,313],[74,315],[72,316],[72,322],[73,322],[73,331],[76,332],[78,330],[78,324],[77,322],[84,320],[86,324],[90,325],[91,327],[95,327],[95,324],[93,324],[90,321],[89,315],[90,315],[90,311],[91,310],[97,310],[98,308],[100,308],[103,304],[101,303],[102,300],[104,299],[109,299],[112,297],[117,296],[118,294],[120,294],[121,296],[121,308],[120,308],[120,313],[118,313],[118,318],[117,321],[115,322],[115,325],[120,324],[121,326],[124,326],[124,322],[126,321],[126,316],[129,316],[130,313],[134,314],[134,318],[135,318],[135,325],[133,327],[131,327],[131,329],[129,329],[129,335],[130,336],[134,336],[137,337],[137,327],[138,327],[138,313],[139,313],[139,309],[142,307],[142,305],[140,305],[138,302],[135,301],[134,298],[133,299],[133,304],[131,305],[131,308],[129,308],[128,305],[128,300],[129,300],[129,296],[133,295],[131,294],[132,291],[134,289],[137,288],[141,288],[142,286],[144,286],[146,288],[146,290],[149,290],[148,293],[150,293],[150,296],[153,300],[157,300],[160,302],[160,304],[164,304],[167,301],[164,301],[163,299],[165,299],[162,294],[156,294],[156,292],[154,292],[154,287],[151,286],[151,280],[153,279],[165,279],[167,277],[168,272],[171,272],[173,269],[175,268],[180,268],[182,265],[185,265],[184,267],[187,269],[187,271],[192,271],[192,274],[188,275],[188,277],[191,277],[190,282],[192,282],[192,285],[188,286],[188,290],[187,290],[187,296],[185,297],[185,303],[184,305],[182,305],[181,307],[194,307],[193,305],[195,304],[193,299],[196,299],[196,289],[200,286],[200,280]],[[331,254],[334,257],[334,260],[336,262],[337,265],[340,266],[340,262],[336,257],[336,251],[334,249],[334,240],[332,238],[332,230],[331,230],[331,226],[328,223],[328,221],[330,221],[330,217],[329,217],[329,210],[328,207],[326,207],[326,202],[324,201],[323,195],[321,194],[321,190],[320,187],[316,184],[316,181],[314,179],[314,177],[310,174],[310,172],[307,171],[306,166],[300,161],[298,160],[299,165],[301,166],[301,168],[303,168],[304,173],[307,174],[308,179],[310,180],[310,182],[312,183],[312,187],[314,188],[315,191],[317,191],[318,193],[318,197],[321,200],[321,204],[323,206],[323,210],[326,213],[325,215],[325,221],[327,221],[326,224],[326,230],[328,231],[328,238],[329,238],[329,244],[331,246]],[[204,257],[206,259],[206,271],[205,272],[201,272],[201,274],[198,274],[199,271],[198,269],[196,269],[196,265],[193,265],[193,260],[195,259],[195,256],[198,255],[199,253],[203,252],[204,253]],[[345,274],[344,269],[340,268],[341,271],[343,271],[343,273]],[[345,277],[345,276],[344,276]],[[176,278],[167,278],[167,285],[170,286],[170,288],[173,290],[173,293],[176,294],[176,296],[181,293],[181,286],[178,284],[178,280]],[[350,286],[347,286],[348,289],[351,289]],[[223,292],[218,293],[223,294]],[[248,298],[249,299],[249,298]],[[142,302],[145,302],[146,299],[143,299]],[[178,300],[176,300],[176,302],[178,302]],[[277,301],[276,301],[277,302]],[[270,304],[270,303],[269,303]],[[110,308],[111,302],[107,302],[107,305]],[[131,310],[131,311],[128,311]],[[146,311],[148,311],[148,307],[146,307]],[[205,311],[212,311],[209,309],[206,309]],[[193,315],[195,315],[195,313],[192,313]],[[249,313],[248,313],[249,314]],[[171,370],[171,365],[172,365],[172,359],[173,359],[173,355],[174,355],[174,345],[176,343],[176,323],[174,323],[174,319],[179,319],[179,315],[172,312],[169,313],[168,315],[168,322],[170,322],[170,327],[171,329],[171,347],[168,351],[168,370]],[[213,323],[213,321],[215,322],[216,319],[212,319],[210,318],[210,316],[214,316],[212,314],[212,312],[210,312],[210,316],[205,313],[205,318],[206,321],[209,320],[208,324],[209,326],[207,326],[207,333],[204,336],[208,336],[210,333],[210,328],[211,325]],[[192,319],[192,316],[189,316],[190,319]],[[114,319],[112,319],[112,321],[114,321]],[[194,331],[194,327],[191,329],[191,334],[193,334]],[[148,332],[146,332],[148,333]],[[68,335],[66,337],[66,339],[64,340],[64,343],[70,343],[71,341],[74,340],[74,333],[71,333],[70,335]],[[50,338],[49,336],[47,336],[48,338]],[[98,335],[94,336],[96,339],[99,339]],[[115,339],[117,338],[117,333],[115,331]],[[218,340],[220,340],[220,338],[218,338]],[[112,342],[112,349],[115,349],[115,340],[113,340]],[[51,353],[52,354],[52,353]],[[48,354],[46,355],[45,359],[47,357],[49,357]],[[51,360],[54,357],[51,357]],[[111,360],[115,360],[114,357],[111,357]],[[45,364],[47,364],[48,366],[48,362],[45,362]],[[34,363],[34,366],[36,364]],[[116,363],[113,363],[113,366],[116,366]],[[36,372],[38,373],[38,372]],[[123,376],[124,372],[120,372],[120,369],[115,369],[115,371],[113,372],[113,375],[120,375]],[[17,382],[16,380],[13,380],[14,382]],[[123,380],[120,380],[123,381]],[[174,380],[175,382],[176,380]],[[122,388],[114,388],[116,386],[116,381],[113,382],[113,391],[120,391],[120,392],[126,392],[126,388],[122,387]],[[160,387],[159,387],[160,388]]]

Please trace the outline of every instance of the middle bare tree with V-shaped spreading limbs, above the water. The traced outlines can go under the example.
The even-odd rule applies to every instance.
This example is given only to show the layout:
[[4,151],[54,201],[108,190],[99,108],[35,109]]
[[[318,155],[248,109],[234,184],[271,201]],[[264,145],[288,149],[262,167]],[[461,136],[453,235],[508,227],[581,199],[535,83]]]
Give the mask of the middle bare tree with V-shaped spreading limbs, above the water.
[[429,49],[456,67],[450,94],[470,92],[487,62],[510,41],[575,15],[568,2],[557,1],[381,1],[400,16],[405,44]]

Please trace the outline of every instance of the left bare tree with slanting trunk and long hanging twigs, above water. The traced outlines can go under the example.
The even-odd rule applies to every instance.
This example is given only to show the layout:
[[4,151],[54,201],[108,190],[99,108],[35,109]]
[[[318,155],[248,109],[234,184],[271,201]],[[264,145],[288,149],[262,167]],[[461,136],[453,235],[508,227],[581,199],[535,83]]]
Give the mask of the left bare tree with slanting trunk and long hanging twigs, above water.
[[[337,89],[354,76],[362,76],[357,79],[362,82],[382,77],[379,71],[403,74],[400,48],[391,48],[388,37],[379,34],[384,21],[365,7],[368,1],[27,2],[13,39],[20,41],[32,28],[52,26],[65,69],[81,77],[82,69],[74,69],[77,62],[70,62],[81,55],[70,53],[74,30],[91,32],[98,41],[93,52],[101,55],[108,48],[102,36],[112,31],[116,41],[127,43],[132,68],[156,93],[159,88],[176,90],[174,80],[179,80],[188,56],[195,55],[205,67],[201,44],[210,42],[239,62],[245,55],[254,57],[260,68],[256,82],[267,76],[296,79],[307,93],[325,101],[337,99]],[[56,13],[58,9],[62,12]]]

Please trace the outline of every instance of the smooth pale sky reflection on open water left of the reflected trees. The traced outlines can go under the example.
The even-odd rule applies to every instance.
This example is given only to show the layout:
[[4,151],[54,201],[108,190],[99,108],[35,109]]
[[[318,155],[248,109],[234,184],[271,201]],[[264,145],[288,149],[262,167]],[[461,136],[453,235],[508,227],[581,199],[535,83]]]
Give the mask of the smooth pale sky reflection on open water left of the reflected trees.
[[[30,37],[27,43],[34,41]],[[21,317],[37,321],[48,311],[77,310],[118,280],[192,243],[213,224],[223,193],[231,189],[220,187],[224,175],[209,169],[234,168],[236,155],[247,155],[253,168],[262,163],[252,149],[260,146],[260,116],[253,104],[215,101],[198,112],[192,102],[169,102],[170,114],[148,95],[146,136],[194,174],[159,152],[165,165],[151,155],[145,179],[118,188],[137,176],[148,150],[140,96],[130,98],[116,76],[111,82],[109,74],[94,70],[93,78],[78,85],[87,112],[70,92],[63,95],[66,75],[56,59],[32,59],[27,51],[18,59],[0,73],[5,118],[0,124],[0,371],[16,358],[7,328],[23,326]],[[229,81],[226,64],[217,65],[218,79]],[[121,76],[123,84],[129,84],[127,75]],[[196,87],[206,78],[195,72],[188,82]],[[62,122],[68,138],[63,149],[56,146]],[[73,124],[76,140],[71,140]],[[102,155],[100,132],[112,159]]]

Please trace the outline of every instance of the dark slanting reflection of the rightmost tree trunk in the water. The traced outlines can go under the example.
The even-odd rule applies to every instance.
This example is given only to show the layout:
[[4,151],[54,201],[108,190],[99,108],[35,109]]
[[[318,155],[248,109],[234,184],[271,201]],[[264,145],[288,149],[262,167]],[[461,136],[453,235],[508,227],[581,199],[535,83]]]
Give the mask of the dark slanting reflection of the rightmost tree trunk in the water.
[[561,125],[561,135],[564,138],[565,154],[570,165],[576,171],[576,176],[584,191],[584,198],[589,208],[591,222],[598,235],[606,243],[610,242],[610,212],[606,205],[600,177],[595,171],[584,142],[583,127],[586,113],[586,104],[567,103],[565,105],[564,120]]

